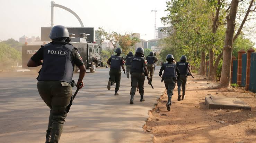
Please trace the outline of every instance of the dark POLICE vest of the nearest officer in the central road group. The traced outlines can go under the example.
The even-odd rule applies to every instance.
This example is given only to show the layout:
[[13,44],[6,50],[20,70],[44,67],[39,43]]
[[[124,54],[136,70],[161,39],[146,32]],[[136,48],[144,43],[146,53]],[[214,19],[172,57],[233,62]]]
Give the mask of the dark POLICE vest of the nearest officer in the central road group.
[[144,67],[143,67],[144,62],[145,62],[144,57],[134,56],[132,58],[131,72],[145,73]]

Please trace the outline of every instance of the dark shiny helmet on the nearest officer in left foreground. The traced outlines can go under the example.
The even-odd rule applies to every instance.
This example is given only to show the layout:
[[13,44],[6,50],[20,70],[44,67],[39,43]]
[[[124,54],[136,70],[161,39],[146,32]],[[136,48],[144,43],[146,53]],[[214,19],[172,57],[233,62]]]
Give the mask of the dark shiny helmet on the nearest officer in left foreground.
[[69,38],[69,31],[67,28],[65,28],[62,25],[56,25],[51,29],[50,39],[56,39],[56,38],[62,38],[62,37],[67,37]]

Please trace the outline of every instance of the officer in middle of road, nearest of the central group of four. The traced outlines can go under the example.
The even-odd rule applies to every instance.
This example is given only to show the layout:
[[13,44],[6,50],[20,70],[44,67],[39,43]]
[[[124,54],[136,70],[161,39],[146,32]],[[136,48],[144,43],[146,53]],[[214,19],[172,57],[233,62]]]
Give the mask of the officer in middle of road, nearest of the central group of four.
[[[140,102],[145,101],[144,95],[144,81],[145,76],[148,76],[147,60],[143,56],[144,49],[139,47],[136,49],[135,55],[131,60],[131,99],[130,104],[133,104],[133,98],[136,92],[136,87],[139,87]],[[150,80],[149,76],[147,77]]]

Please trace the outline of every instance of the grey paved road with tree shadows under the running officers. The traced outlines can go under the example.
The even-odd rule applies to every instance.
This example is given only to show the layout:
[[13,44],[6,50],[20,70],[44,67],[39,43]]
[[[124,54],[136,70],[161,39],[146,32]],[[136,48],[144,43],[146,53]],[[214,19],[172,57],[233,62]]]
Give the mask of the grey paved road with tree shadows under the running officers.
[[[114,86],[107,90],[109,69],[86,73],[85,87],[71,106],[61,143],[137,143],[151,142],[142,126],[148,111],[164,91],[156,68],[153,86],[145,81],[145,102],[136,92],[130,105],[130,79],[122,74],[120,95]],[[0,141],[3,143],[43,143],[50,109],[40,98],[36,76],[0,78]],[[74,80],[78,74],[74,74]],[[74,89],[73,89],[74,90]]]

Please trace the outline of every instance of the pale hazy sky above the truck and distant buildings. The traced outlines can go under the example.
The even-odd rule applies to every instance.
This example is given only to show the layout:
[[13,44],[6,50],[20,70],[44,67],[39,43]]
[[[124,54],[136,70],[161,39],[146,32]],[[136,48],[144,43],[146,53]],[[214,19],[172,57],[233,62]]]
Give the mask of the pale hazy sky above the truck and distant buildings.
[[[23,35],[40,36],[41,27],[50,27],[53,0],[0,0],[0,40]],[[157,27],[166,16],[166,0],[54,0],[78,14],[85,27],[104,27],[118,32],[140,33],[142,39],[154,38],[155,13]],[[68,11],[54,8],[54,25],[80,27]]]

